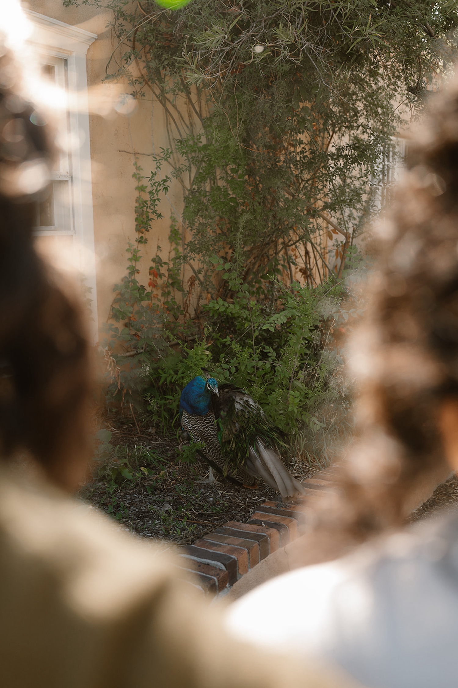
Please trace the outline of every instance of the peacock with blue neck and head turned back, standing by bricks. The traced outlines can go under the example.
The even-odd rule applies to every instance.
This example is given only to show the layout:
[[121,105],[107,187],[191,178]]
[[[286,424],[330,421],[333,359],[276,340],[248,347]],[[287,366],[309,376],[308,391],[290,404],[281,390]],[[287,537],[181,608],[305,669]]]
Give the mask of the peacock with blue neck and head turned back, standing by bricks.
[[183,433],[204,445],[198,455],[227,480],[255,488],[261,477],[284,501],[304,493],[275,451],[282,431],[240,387],[198,375],[181,392],[180,413]]

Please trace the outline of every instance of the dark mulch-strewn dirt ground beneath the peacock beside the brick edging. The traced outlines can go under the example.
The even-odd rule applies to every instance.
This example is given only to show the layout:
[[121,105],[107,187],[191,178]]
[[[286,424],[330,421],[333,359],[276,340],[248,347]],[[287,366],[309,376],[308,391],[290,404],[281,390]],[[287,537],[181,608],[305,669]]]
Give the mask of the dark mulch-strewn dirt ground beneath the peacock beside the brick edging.
[[[209,484],[204,462],[183,462],[176,441],[148,434],[141,425],[137,429],[130,420],[112,419],[110,427],[112,455],[96,466],[80,498],[137,535],[190,544],[227,521],[247,521],[268,499],[279,501],[262,481],[253,490],[222,478]],[[304,479],[319,467],[293,463],[289,469]],[[458,480],[453,477],[413,512],[411,521],[457,503]]]

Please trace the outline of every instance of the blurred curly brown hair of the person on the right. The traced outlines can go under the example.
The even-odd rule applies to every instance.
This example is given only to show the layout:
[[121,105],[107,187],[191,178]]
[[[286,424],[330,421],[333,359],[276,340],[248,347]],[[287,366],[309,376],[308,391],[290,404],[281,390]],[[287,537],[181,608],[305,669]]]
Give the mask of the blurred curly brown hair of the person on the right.
[[432,99],[409,165],[380,228],[371,298],[352,341],[358,433],[328,512],[358,539],[400,524],[424,475],[441,466],[446,475],[438,411],[458,397],[457,80]]

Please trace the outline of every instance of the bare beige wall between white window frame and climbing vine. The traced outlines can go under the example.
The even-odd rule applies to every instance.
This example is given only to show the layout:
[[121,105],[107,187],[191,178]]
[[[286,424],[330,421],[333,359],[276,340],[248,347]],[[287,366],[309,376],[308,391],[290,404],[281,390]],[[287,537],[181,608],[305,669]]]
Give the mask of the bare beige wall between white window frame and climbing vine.
[[[89,89],[100,87],[116,45],[113,30],[107,28],[111,14],[87,6],[65,8],[62,0],[30,0],[29,8],[98,35],[87,52],[87,76]],[[129,92],[130,87],[125,84],[122,91]],[[91,114],[90,130],[98,319],[102,325],[113,301],[113,285],[126,274],[128,241],[135,239],[134,151],[144,172],[148,173],[153,145],[154,150],[159,151],[167,142],[163,112],[157,103],[153,105],[148,93],[144,100],[138,101],[137,111],[130,117],[114,111],[104,118]],[[183,200],[179,188],[170,189],[169,198],[181,211]],[[172,206],[165,200],[160,208],[164,219],[155,221],[150,231],[147,255],[139,276],[144,283],[148,282],[148,257],[155,253],[158,240],[163,248],[168,246],[171,210]]]

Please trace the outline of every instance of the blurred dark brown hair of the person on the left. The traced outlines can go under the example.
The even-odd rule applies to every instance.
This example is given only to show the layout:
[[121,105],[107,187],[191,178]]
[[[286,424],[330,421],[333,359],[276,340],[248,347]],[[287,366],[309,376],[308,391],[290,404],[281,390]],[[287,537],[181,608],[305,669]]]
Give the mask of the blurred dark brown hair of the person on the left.
[[26,450],[69,487],[89,451],[89,345],[76,297],[34,248],[52,131],[27,103],[21,69],[1,43],[0,454]]

